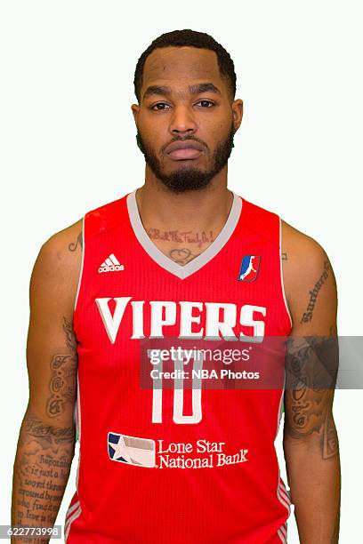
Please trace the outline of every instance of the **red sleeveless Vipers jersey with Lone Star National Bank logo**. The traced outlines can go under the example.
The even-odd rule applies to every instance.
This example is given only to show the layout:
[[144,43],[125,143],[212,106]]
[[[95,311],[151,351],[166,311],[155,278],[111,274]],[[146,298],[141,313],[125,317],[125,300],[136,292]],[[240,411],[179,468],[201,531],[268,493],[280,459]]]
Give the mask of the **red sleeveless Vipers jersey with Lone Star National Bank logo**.
[[[84,218],[74,314],[80,449],[65,539],[286,542],[291,500],[274,446],[285,346],[249,358],[291,331],[280,218],[233,193],[220,234],[182,266],[151,242],[135,192]],[[171,356],[171,339],[175,348],[212,346],[185,366],[201,387],[176,376],[186,359]],[[208,366],[221,345],[222,360]],[[242,363],[230,364],[232,350]],[[204,364],[217,372],[198,381]],[[221,382],[218,372],[231,368],[238,378]],[[280,386],[254,387],[262,371],[274,377],[281,368]]]

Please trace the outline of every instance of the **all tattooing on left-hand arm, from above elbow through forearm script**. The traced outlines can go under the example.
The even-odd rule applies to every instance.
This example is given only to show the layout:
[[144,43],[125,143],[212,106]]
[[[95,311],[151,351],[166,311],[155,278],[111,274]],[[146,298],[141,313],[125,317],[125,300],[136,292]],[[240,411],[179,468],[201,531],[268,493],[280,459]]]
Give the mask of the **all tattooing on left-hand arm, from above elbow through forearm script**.
[[[28,405],[21,423],[13,469],[12,525],[52,526],[69,479],[76,441],[73,407],[77,390],[77,340],[65,316],[62,328],[67,348],[63,354],[52,356],[50,396],[44,398],[44,419]],[[68,414],[64,413],[66,407]],[[58,420],[52,423],[50,418],[56,416]],[[21,541],[44,544],[49,538]]]

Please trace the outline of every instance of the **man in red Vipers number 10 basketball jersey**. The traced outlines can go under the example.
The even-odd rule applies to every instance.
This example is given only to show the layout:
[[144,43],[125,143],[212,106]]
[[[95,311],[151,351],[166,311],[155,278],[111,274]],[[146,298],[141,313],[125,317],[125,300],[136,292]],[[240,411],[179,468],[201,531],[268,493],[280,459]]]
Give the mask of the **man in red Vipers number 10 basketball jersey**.
[[[214,38],[159,36],[141,55],[134,86],[145,183],[52,236],[34,267],[12,524],[54,523],[77,400],[70,544],[286,542],[292,503],[301,542],[337,542],[334,388],[316,388],[313,375],[317,339],[336,336],[327,254],[227,188],[243,102],[234,98],[230,55]],[[185,351],[166,362],[160,349],[171,354],[188,340],[246,348],[233,368],[250,363],[258,372],[244,378],[267,369],[275,379],[281,352],[249,360],[248,350],[283,337],[292,381],[303,386],[287,387],[285,371],[275,388],[218,379],[188,388],[176,374],[165,385],[161,371],[181,372]],[[190,364],[195,371],[206,361]],[[283,401],[289,491],[274,449]]]

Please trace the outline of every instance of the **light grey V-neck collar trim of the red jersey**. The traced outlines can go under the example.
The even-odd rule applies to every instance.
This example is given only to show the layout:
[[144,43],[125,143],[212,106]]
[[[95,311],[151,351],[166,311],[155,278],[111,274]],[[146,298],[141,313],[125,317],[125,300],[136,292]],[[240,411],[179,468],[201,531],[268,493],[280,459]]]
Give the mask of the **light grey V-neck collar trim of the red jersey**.
[[151,242],[145,228],[142,225],[139,208],[136,201],[135,188],[126,197],[128,217],[133,228],[133,233],[140,242],[142,248],[148,253],[149,257],[157,262],[157,264],[164,268],[173,276],[177,276],[180,279],[189,277],[194,272],[197,272],[201,268],[205,267],[214,257],[222,250],[222,247],[230,240],[233,231],[237,227],[240,214],[242,212],[242,198],[236,195],[233,191],[233,201],[230,207],[230,213],[224,226],[222,227],[219,235],[214,239],[212,244],[208,245],[204,252],[201,252],[193,260],[190,260],[186,265],[179,265],[174,260],[169,259],[166,255],[158,249],[158,247]]

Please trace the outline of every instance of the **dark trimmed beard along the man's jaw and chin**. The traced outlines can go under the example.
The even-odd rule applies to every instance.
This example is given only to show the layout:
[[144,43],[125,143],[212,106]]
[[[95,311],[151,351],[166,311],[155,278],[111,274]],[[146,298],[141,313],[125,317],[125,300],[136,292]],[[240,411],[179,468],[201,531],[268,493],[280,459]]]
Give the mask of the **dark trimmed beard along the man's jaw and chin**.
[[[136,141],[142,155],[145,157],[146,163],[149,164],[151,171],[154,172],[157,179],[162,181],[165,187],[173,191],[173,193],[184,193],[186,191],[198,191],[202,188],[206,188],[209,182],[213,180],[214,176],[218,172],[221,172],[223,166],[227,164],[227,161],[230,158],[232,148],[234,148],[234,135],[234,125],[231,124],[229,135],[225,140],[220,141],[215,148],[211,161],[212,165],[206,171],[200,170],[189,164],[187,166],[181,166],[173,172],[165,173],[161,161],[157,158],[154,151],[142,140],[139,131],[136,134]],[[183,141],[184,140],[185,139],[183,139]],[[193,139],[190,138],[190,140]]]

